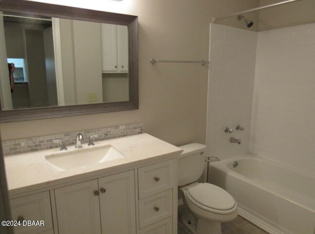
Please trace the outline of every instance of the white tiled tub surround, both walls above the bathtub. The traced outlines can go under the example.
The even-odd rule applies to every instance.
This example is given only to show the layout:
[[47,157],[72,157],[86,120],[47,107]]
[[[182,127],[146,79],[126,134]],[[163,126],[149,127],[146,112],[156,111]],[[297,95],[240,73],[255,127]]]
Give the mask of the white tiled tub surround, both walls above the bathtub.
[[314,171],[314,47],[315,23],[259,32],[211,24],[209,154],[250,152]]

